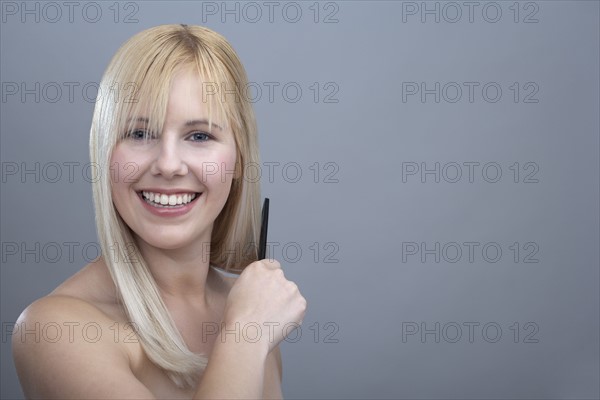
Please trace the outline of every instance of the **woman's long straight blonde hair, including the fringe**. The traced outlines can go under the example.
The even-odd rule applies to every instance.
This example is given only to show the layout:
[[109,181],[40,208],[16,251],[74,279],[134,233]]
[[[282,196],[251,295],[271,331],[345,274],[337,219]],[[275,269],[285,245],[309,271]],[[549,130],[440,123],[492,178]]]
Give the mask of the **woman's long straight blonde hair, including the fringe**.
[[186,67],[195,68],[212,85],[211,93],[227,91],[207,104],[209,123],[213,116],[225,122],[237,151],[230,194],[214,222],[210,264],[241,271],[257,259],[260,188],[256,180],[247,179],[244,168],[259,165],[257,128],[252,104],[243,93],[246,72],[223,36],[200,26],[162,25],[130,38],[102,77],[90,130],[90,158],[100,171],[93,195],[105,262],[148,358],[182,388],[196,384],[207,359],[187,348],[131,230],[115,209],[109,163],[114,146],[139,116],[150,119],[151,130],[161,131],[171,81]]

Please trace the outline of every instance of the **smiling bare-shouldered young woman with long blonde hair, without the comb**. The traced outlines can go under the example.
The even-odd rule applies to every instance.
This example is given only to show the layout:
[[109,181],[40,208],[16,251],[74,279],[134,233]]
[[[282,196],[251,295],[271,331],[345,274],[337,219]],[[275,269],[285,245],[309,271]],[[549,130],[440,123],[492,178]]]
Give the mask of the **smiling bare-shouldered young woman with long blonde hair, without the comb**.
[[13,335],[28,398],[282,396],[278,344],[306,301],[277,261],[257,260],[246,85],[203,27],[148,29],[113,57],[90,137],[103,256],[17,321],[45,332]]

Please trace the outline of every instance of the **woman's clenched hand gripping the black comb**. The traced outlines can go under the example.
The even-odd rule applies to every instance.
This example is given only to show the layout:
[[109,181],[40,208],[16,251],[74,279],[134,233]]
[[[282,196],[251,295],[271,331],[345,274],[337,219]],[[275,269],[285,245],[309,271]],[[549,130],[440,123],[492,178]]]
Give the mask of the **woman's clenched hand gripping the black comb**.
[[228,331],[240,330],[240,340],[262,343],[270,352],[302,323],[305,311],[298,286],[285,278],[279,262],[265,259],[248,265],[236,280],[224,323]]

